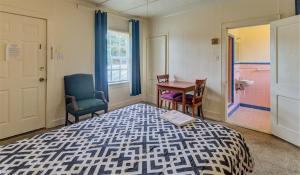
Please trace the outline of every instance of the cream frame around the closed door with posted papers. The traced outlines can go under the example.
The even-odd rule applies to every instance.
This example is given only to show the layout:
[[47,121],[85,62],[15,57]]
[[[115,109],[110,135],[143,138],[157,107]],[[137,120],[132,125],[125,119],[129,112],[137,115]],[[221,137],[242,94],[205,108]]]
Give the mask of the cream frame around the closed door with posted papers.
[[[48,101],[48,75],[49,75],[49,71],[48,71],[48,58],[52,58],[53,56],[53,53],[51,53],[51,55],[48,55],[50,54],[50,52],[48,52],[48,46],[49,46],[49,41],[48,41],[48,31],[49,31],[49,25],[48,25],[48,17],[44,16],[44,15],[37,15],[37,14],[32,14],[31,12],[29,13],[28,11],[21,11],[19,9],[13,9],[13,10],[2,10],[1,8],[1,5],[0,5],[0,13],[7,13],[7,14],[11,14],[11,15],[17,15],[17,16],[21,16],[21,17],[27,17],[27,18],[33,18],[33,19],[39,19],[39,20],[44,20],[45,21],[45,24],[46,24],[46,42],[45,42],[45,70],[46,70],[46,81],[45,81],[45,111],[44,111],[44,114],[45,114],[45,125],[44,125],[44,128],[49,128],[48,126],[51,124],[51,122],[49,121],[49,117],[48,117],[48,114],[47,114],[47,111],[48,111],[48,108],[47,108],[47,101]],[[28,15],[27,15],[28,14]],[[52,48],[51,48],[52,50]]]

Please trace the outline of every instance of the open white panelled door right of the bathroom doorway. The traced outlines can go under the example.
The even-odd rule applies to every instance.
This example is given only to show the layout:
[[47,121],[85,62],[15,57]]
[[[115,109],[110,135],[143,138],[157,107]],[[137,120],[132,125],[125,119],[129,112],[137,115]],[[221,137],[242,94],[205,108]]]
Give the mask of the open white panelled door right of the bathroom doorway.
[[271,24],[274,135],[300,146],[300,16]]

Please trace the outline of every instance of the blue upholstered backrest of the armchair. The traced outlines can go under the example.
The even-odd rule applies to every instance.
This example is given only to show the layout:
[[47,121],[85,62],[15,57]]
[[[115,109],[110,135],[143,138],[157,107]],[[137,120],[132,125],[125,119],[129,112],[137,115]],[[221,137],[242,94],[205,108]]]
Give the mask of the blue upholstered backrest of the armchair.
[[94,79],[91,74],[74,74],[64,77],[65,94],[75,96],[76,100],[95,96]]

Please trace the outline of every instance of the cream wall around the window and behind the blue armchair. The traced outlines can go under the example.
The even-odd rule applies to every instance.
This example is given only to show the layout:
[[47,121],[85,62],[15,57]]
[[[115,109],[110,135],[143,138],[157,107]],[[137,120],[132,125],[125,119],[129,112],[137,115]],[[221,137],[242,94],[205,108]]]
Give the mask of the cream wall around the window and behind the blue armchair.
[[[0,1],[0,11],[47,19],[47,127],[57,126],[64,122],[63,76],[74,73],[94,73],[94,8],[91,4],[77,6],[73,0]],[[109,17],[109,20],[117,21],[118,19]],[[118,21],[115,24],[120,23]],[[122,24],[125,24],[125,21]],[[128,27],[125,25],[119,27],[125,29]],[[147,35],[147,30],[144,30],[147,29],[146,26],[147,22],[143,20],[141,33],[144,40]],[[58,59],[56,54],[54,54],[54,59],[50,59],[50,47],[59,51],[63,59]],[[141,54],[144,61],[143,50],[144,48],[141,49]],[[142,66],[142,75],[145,75],[143,74],[145,65]],[[128,94],[129,86],[110,88],[110,107],[119,107],[143,100],[143,95],[129,97]]]

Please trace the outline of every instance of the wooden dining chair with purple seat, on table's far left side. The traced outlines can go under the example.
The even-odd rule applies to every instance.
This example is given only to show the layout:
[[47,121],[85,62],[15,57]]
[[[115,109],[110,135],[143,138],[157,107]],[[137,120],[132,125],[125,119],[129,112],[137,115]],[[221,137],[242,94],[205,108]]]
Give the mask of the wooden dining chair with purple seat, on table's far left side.
[[[157,76],[158,83],[167,83],[169,82],[169,75],[158,75]],[[172,104],[172,107],[175,106],[174,99],[177,96],[180,96],[180,93],[173,92],[173,91],[166,91],[166,90],[160,90],[159,91],[159,107],[161,108],[163,106],[163,102],[167,105],[168,103],[168,109],[170,109],[170,106]]]

